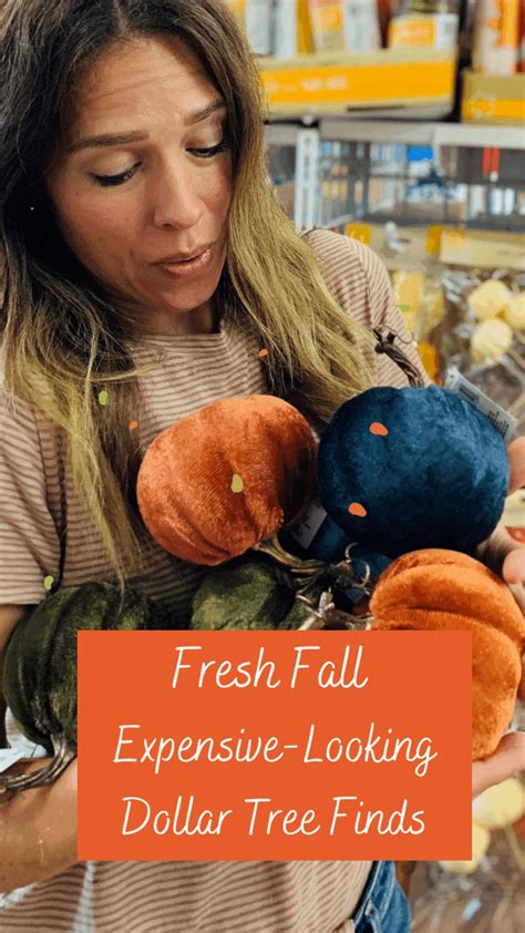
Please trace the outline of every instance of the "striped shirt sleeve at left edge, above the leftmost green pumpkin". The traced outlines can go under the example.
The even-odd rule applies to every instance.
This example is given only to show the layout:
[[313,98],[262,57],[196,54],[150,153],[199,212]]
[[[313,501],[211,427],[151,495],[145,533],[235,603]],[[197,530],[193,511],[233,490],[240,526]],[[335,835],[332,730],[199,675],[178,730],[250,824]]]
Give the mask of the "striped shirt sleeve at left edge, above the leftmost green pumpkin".
[[[40,603],[44,578],[59,573],[60,540],[48,482],[52,464],[44,462],[39,420],[0,388],[0,605]],[[47,448],[51,454],[51,435]]]

